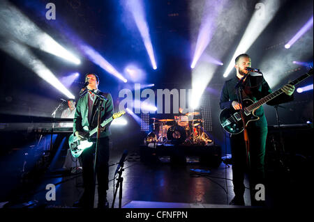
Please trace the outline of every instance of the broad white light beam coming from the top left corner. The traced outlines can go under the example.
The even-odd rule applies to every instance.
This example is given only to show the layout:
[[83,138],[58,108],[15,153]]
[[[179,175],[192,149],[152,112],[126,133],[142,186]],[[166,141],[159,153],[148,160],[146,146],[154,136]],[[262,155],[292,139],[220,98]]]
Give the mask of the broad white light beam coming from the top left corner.
[[76,65],[81,63],[80,59],[62,47],[50,35],[40,30],[15,6],[10,5],[5,0],[1,1],[0,4],[0,27],[3,38],[18,40],[31,47],[64,58]]

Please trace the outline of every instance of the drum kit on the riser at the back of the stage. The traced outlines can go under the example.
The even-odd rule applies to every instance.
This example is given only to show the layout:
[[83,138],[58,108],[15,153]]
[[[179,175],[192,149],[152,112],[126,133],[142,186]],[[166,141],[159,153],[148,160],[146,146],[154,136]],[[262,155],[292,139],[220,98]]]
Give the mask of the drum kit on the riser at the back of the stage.
[[204,121],[200,118],[195,118],[197,116],[200,116],[199,112],[174,116],[174,119],[151,118],[153,120],[153,131],[149,132],[144,143],[185,145],[208,145],[212,143],[213,141],[202,127]]

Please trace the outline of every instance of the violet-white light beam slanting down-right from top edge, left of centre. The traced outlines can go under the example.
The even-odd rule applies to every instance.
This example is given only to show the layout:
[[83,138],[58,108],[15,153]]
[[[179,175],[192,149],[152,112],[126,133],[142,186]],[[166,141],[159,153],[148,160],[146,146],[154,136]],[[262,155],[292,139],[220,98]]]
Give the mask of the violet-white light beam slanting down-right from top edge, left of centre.
[[137,29],[140,31],[144,46],[147,50],[147,54],[151,60],[151,65],[154,70],[157,69],[156,60],[154,56],[153,45],[151,44],[151,37],[149,35],[149,26],[147,24],[147,19],[144,15],[144,6],[142,0],[126,0],[124,1],[126,7],[133,15]]

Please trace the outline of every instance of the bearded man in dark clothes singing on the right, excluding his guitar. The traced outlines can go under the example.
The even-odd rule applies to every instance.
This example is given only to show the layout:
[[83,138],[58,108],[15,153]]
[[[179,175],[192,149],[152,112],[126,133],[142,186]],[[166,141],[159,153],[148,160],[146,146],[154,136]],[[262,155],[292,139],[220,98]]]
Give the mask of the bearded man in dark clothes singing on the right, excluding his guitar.
[[[248,54],[241,54],[237,56],[234,68],[237,70],[237,74],[232,79],[225,81],[220,95],[220,109],[237,111],[241,108],[235,86],[245,75],[247,76],[242,83],[242,100],[250,99],[255,102],[272,93],[271,88],[269,88],[269,85],[267,84],[267,81],[265,81],[264,77],[262,77],[262,74],[257,76],[253,75],[253,72],[258,72],[258,70],[250,69],[253,71],[252,74],[249,74],[249,71],[246,70],[246,68],[251,68],[251,58]],[[267,102],[267,104],[276,105],[293,100],[293,85],[287,84],[283,86],[282,91],[283,93],[281,93],[281,95],[278,95],[278,97],[274,98],[274,100]],[[267,138],[267,120],[264,116],[263,107],[260,106],[256,109],[254,114],[259,119],[252,121],[247,125],[251,157],[251,172],[249,175],[251,176],[250,181],[252,182],[251,187],[253,188],[255,187],[255,184],[264,184],[264,154]],[[228,122],[225,124],[227,125]],[[232,134],[230,137],[230,145],[232,152],[232,182],[235,194],[234,198],[230,202],[230,205],[245,205],[244,173],[246,172],[247,161],[246,143],[244,143],[243,132],[240,131],[238,134]],[[251,192],[254,192],[254,190],[251,190]],[[252,196],[254,197],[255,195],[252,195],[251,193],[251,197]],[[251,203],[252,205],[263,205],[263,203],[260,201],[257,202],[254,198],[251,198]]]

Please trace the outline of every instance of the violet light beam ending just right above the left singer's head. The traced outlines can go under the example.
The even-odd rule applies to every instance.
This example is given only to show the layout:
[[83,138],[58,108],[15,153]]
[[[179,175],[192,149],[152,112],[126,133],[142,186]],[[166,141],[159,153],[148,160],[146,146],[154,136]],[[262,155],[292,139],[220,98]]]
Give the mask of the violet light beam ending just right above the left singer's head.
[[108,63],[103,56],[101,56],[98,51],[94,50],[88,45],[80,45],[80,48],[84,51],[84,54],[86,54],[89,59],[95,63],[96,65],[99,65],[100,68],[103,68],[103,70],[106,70],[110,74],[114,75],[114,77],[117,77],[121,81],[124,81],[125,83],[128,81],[122,74],[120,74],[110,63]]

